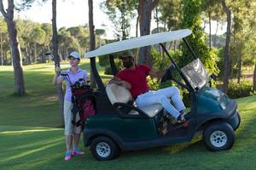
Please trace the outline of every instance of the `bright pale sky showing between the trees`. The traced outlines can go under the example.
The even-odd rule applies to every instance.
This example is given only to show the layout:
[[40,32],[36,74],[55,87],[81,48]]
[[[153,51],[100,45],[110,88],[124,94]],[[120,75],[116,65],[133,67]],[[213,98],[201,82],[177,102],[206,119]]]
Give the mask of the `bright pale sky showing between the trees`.
[[[96,29],[105,29],[106,38],[113,39],[113,25],[111,21],[108,20],[108,15],[102,12],[100,8],[100,3],[103,0],[93,0],[94,6],[94,25]],[[19,2],[19,0],[16,0]],[[51,23],[52,18],[52,8],[51,0],[46,3],[38,4],[33,3],[32,8],[26,11],[20,11],[20,13],[15,13],[16,17],[22,19],[33,20],[39,23]],[[61,28],[71,27],[71,26],[84,26],[88,24],[88,0],[57,0],[57,27]],[[135,36],[135,24],[136,20],[131,23],[131,36]],[[102,26],[105,25],[105,26]],[[156,26],[154,20],[151,23],[151,28]],[[225,29],[225,28],[224,28]],[[212,33],[216,30],[216,24],[212,24]],[[206,29],[208,31],[208,28]],[[218,29],[218,34],[223,34],[224,30]]]

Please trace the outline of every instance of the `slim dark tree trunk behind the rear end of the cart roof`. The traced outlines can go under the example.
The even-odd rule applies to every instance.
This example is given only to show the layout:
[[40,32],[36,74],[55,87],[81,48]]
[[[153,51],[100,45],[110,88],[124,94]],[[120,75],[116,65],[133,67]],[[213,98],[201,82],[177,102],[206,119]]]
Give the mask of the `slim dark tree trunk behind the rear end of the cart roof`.
[[[89,6],[89,31],[90,31],[90,51],[96,48],[96,41],[95,41],[95,30],[93,24],[93,2],[92,0],[88,0]],[[92,74],[92,70],[90,68],[90,85],[92,88],[96,88],[96,81]]]

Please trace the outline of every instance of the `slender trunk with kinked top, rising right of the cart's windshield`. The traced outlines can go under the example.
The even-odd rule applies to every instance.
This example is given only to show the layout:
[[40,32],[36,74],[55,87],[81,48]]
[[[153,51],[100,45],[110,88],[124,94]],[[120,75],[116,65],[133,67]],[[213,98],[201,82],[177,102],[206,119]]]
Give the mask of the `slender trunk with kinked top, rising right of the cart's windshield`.
[[227,33],[226,33],[226,42],[224,48],[224,76],[223,76],[223,87],[222,90],[224,93],[228,92],[229,87],[229,71],[230,71],[230,32],[231,32],[231,12],[230,9],[226,6],[225,0],[221,0],[224,13],[227,15]]

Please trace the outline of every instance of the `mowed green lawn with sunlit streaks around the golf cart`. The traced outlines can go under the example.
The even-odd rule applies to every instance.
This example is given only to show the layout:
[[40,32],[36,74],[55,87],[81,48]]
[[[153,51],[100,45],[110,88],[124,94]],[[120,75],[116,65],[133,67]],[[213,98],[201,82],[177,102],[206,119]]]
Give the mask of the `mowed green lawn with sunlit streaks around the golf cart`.
[[[88,60],[82,61],[82,68],[89,71]],[[56,88],[51,84],[53,64],[24,66],[26,97],[13,95],[12,70],[11,66],[0,66],[1,170],[256,168],[256,96],[236,99],[241,126],[231,150],[211,152],[201,139],[195,139],[189,144],[125,151],[113,161],[96,161],[86,148],[84,156],[64,161],[63,129]]]

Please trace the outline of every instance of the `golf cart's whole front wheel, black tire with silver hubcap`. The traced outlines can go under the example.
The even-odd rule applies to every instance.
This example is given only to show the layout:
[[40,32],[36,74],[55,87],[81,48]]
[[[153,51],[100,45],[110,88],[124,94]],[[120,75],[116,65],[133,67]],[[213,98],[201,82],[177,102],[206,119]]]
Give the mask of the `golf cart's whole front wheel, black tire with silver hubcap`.
[[235,141],[233,127],[227,122],[214,122],[205,128],[203,141],[208,150],[230,150]]

